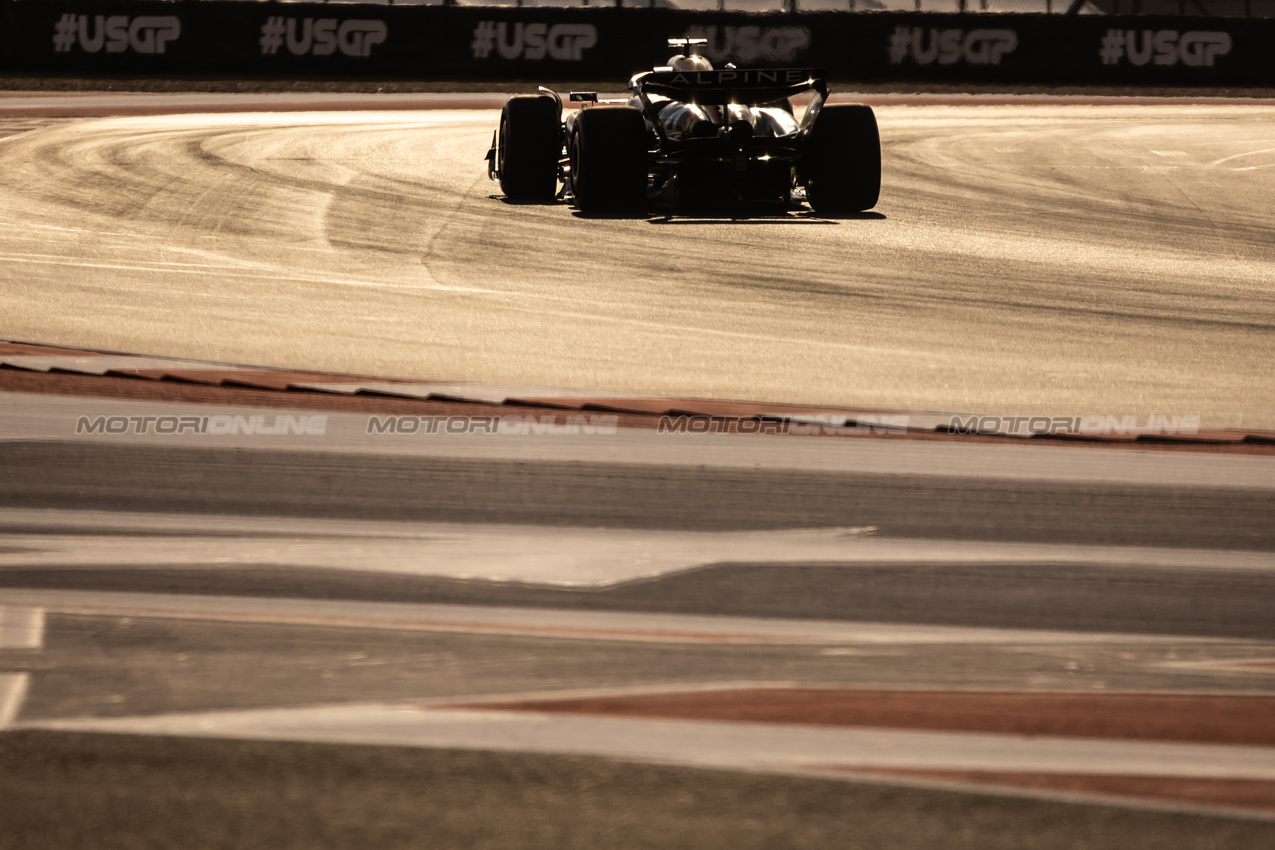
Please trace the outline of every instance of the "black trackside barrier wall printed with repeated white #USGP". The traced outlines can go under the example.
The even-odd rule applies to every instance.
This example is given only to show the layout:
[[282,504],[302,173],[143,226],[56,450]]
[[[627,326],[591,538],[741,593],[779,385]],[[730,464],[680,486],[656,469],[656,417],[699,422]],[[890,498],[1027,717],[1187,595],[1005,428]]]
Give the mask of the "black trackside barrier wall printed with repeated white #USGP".
[[841,83],[1275,83],[1275,20],[56,0],[0,14],[10,73],[618,83],[691,36],[718,64]]

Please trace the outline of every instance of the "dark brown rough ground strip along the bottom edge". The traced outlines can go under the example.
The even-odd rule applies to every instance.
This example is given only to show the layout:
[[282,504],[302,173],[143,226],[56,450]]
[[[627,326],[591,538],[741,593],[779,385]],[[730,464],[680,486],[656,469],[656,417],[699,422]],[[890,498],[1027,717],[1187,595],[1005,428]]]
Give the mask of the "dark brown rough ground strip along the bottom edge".
[[14,850],[1230,850],[1275,840],[1262,822],[604,758],[34,731],[0,735],[0,832]]

